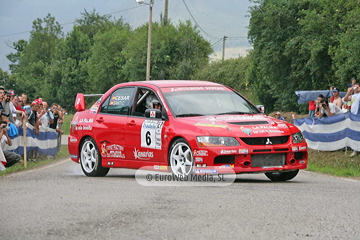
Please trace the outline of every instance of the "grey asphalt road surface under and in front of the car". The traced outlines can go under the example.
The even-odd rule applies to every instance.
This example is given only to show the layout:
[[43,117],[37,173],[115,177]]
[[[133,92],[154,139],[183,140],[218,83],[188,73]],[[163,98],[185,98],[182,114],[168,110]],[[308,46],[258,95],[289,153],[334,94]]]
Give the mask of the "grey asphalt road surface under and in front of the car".
[[360,181],[300,171],[276,183],[145,187],[63,160],[0,177],[0,239],[360,239]]

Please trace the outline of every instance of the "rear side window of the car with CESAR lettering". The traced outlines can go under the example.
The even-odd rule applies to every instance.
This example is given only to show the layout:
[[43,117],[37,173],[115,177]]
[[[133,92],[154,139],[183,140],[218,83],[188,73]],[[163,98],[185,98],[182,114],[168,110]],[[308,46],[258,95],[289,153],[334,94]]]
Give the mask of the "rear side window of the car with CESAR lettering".
[[101,113],[128,115],[130,100],[135,88],[119,88],[115,90],[101,105]]

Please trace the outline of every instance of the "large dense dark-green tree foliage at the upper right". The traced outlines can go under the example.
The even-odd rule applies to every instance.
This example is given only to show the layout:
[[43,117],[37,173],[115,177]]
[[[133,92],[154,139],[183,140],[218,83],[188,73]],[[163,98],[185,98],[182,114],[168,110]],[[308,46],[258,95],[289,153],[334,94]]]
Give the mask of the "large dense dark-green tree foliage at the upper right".
[[359,46],[354,39],[359,38],[356,15],[360,7],[356,1],[257,3],[251,9],[249,27],[254,46],[249,76],[269,110],[303,111],[306,107],[296,103],[296,90],[326,90],[332,85],[345,90],[348,80],[359,72]]

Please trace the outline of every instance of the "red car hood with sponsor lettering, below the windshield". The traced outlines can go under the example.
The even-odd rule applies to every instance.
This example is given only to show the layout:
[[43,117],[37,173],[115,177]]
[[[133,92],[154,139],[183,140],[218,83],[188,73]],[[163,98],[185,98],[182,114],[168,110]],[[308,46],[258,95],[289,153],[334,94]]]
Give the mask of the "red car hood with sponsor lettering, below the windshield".
[[238,137],[283,136],[291,134],[292,124],[264,114],[221,115],[177,118],[178,122],[207,130],[211,135]]

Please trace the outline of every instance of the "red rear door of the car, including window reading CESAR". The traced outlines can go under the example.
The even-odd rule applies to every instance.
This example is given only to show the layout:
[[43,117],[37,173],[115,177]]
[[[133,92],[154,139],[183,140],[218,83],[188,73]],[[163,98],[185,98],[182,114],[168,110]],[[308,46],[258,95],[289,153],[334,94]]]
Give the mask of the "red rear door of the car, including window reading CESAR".
[[129,159],[126,153],[125,126],[134,93],[135,87],[118,88],[99,107],[93,131],[101,156],[107,161]]

